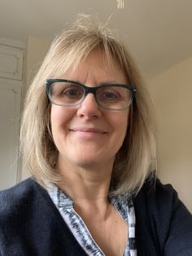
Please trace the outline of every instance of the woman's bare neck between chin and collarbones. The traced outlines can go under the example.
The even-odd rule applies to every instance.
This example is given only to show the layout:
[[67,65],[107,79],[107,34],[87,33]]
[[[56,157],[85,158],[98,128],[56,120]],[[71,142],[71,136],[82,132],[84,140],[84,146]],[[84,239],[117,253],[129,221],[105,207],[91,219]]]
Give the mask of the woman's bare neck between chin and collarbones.
[[[104,167],[103,167],[104,166]],[[75,205],[107,205],[112,164],[75,166],[58,161],[57,170],[63,176],[59,186]]]

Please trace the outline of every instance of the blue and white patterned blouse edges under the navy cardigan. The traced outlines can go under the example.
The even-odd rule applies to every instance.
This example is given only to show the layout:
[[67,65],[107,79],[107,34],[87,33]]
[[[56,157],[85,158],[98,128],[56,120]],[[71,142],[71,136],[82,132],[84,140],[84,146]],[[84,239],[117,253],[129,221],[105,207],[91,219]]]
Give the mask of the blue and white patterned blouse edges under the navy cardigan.
[[[73,236],[75,236],[76,241],[78,241],[85,250],[85,253],[91,256],[104,256],[105,254],[94,241],[84,221],[74,210],[72,199],[66,196],[63,191],[52,183],[48,185],[48,193]],[[129,239],[124,249],[124,256],[136,256],[137,249],[135,243],[135,213],[133,201],[128,200],[128,196],[111,196],[109,201],[115,206],[126,223],[128,223]]]

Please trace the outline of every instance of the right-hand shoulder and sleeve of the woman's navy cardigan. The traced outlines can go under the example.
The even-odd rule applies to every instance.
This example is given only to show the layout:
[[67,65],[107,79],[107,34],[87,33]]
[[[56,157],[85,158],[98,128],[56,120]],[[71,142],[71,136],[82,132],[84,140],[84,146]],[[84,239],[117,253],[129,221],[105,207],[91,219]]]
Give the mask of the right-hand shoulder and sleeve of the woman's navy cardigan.
[[134,201],[137,242],[166,255],[192,253],[192,215],[171,184],[148,179]]

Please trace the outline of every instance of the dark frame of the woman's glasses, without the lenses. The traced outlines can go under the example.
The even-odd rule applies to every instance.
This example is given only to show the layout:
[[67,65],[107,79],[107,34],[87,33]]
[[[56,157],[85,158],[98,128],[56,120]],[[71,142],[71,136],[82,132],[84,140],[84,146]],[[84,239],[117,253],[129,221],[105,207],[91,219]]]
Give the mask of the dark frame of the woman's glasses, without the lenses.
[[[74,85],[77,85],[77,86],[81,86],[83,88],[83,90],[85,91],[85,94],[83,96],[83,98],[81,99],[80,102],[78,102],[78,104],[72,104],[72,105],[59,105],[59,104],[55,104],[52,100],[51,100],[51,96],[50,96],[50,86],[52,83],[54,82],[71,82],[72,84]],[[99,103],[98,103],[98,100],[97,100],[97,90],[100,89],[100,88],[103,88],[103,87],[108,87],[108,86],[116,86],[116,87],[123,87],[123,88],[126,88],[126,89],[129,89],[130,92],[131,92],[131,101],[130,101],[130,104],[129,106],[133,103],[133,99],[135,98],[135,94],[136,94],[136,89],[129,85],[129,84],[107,84],[107,85],[101,85],[101,86],[95,86],[95,87],[89,87],[89,86],[85,86],[85,85],[82,85],[80,82],[74,82],[72,80],[67,80],[67,79],[59,79],[59,78],[55,78],[55,79],[46,79],[46,95],[48,96],[48,98],[50,99],[50,102],[52,104],[55,104],[55,105],[59,105],[59,106],[63,106],[63,107],[73,107],[73,106],[77,106],[79,104],[81,104],[81,102],[83,102],[83,100],[85,99],[86,95],[88,95],[89,93],[92,93],[94,95],[94,99],[96,100],[98,106],[104,108],[103,106],[101,106]],[[126,107],[126,108],[129,108]],[[111,109],[112,108],[108,108],[108,109]],[[125,108],[123,108],[125,109]],[[115,109],[115,110],[123,110],[123,109]]]

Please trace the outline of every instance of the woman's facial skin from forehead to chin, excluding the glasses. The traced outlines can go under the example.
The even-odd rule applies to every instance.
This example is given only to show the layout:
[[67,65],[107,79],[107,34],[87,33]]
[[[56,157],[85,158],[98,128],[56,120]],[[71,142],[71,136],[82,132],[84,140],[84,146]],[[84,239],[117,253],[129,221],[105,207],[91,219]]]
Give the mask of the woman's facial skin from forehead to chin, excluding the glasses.
[[[93,51],[76,70],[69,68],[63,79],[94,87],[103,83],[128,83],[114,62],[110,66],[101,51]],[[98,106],[89,93],[76,107],[52,104],[50,120],[59,166],[112,166],[128,125],[129,110],[111,111]]]

